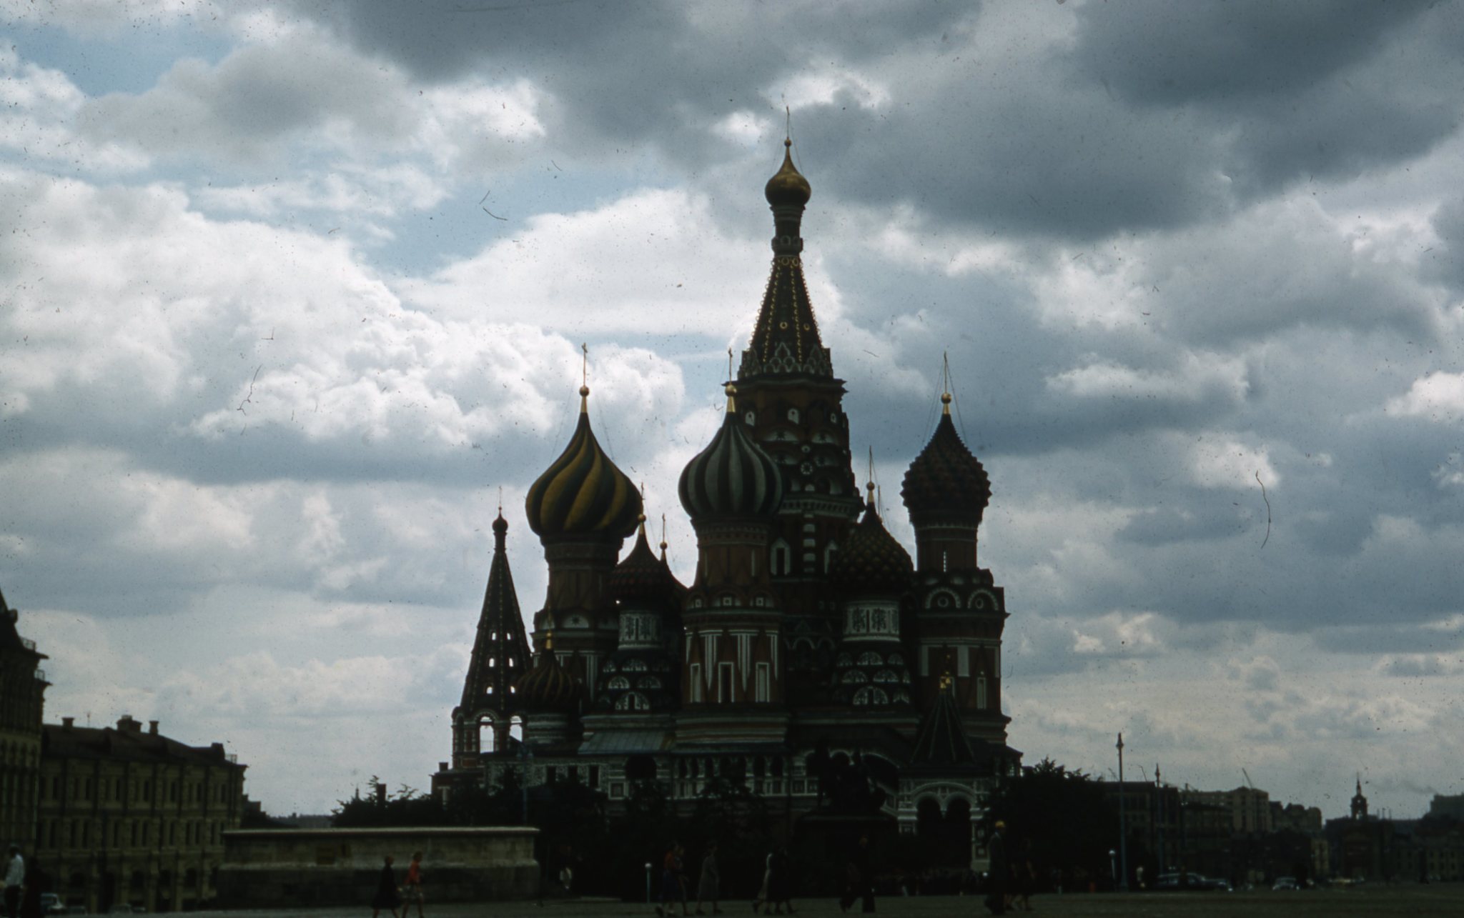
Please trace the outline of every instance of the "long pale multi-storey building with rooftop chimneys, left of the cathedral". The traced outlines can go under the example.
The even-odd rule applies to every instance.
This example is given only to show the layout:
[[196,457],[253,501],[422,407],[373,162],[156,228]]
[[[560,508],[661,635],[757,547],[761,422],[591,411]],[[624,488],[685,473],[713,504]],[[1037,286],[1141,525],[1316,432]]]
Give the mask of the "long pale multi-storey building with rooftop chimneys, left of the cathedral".
[[157,720],[47,723],[35,854],[67,905],[199,908],[214,899],[223,833],[244,814],[244,767],[224,744],[186,745]]

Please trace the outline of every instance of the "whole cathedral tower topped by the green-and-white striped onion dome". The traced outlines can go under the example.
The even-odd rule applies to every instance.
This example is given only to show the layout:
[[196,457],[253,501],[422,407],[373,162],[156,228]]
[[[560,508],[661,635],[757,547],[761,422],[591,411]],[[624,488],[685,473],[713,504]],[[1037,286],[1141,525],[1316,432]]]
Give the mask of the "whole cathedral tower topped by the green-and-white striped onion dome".
[[736,388],[707,448],[681,473],[681,505],[697,530],[697,578],[684,616],[678,741],[780,742],[788,726],[783,616],[767,546],[783,498],[773,458],[752,442]]

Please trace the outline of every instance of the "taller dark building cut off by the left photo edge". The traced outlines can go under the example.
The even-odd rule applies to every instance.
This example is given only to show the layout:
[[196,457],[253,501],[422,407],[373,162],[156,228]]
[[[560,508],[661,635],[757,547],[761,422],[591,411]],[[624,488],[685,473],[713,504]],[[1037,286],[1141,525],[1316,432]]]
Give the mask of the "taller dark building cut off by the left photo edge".
[[16,630],[19,613],[0,593],[0,849],[35,839],[35,792],[41,767],[44,653]]

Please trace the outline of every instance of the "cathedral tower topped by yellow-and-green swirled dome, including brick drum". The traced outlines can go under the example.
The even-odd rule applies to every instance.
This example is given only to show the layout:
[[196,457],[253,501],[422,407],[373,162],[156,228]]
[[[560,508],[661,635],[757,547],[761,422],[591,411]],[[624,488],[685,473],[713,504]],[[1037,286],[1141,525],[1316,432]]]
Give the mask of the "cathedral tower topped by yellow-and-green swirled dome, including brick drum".
[[552,632],[561,662],[593,703],[600,663],[615,653],[619,638],[610,571],[625,536],[635,531],[641,496],[594,439],[589,397],[590,387],[580,387],[574,436],[529,489],[524,512],[549,564],[549,590],[534,615],[536,650],[545,650]]

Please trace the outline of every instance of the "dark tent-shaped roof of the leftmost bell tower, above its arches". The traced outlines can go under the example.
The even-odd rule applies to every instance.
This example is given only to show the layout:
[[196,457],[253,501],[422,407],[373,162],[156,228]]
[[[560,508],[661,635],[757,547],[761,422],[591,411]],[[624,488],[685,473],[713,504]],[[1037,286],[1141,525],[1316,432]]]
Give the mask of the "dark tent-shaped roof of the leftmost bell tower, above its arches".
[[529,638],[514,592],[514,574],[508,568],[507,539],[508,520],[499,508],[493,520],[493,562],[488,568],[483,611],[463,681],[463,707],[468,710],[507,713],[509,687],[529,668]]

